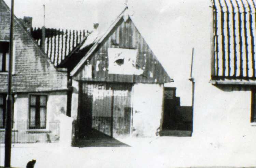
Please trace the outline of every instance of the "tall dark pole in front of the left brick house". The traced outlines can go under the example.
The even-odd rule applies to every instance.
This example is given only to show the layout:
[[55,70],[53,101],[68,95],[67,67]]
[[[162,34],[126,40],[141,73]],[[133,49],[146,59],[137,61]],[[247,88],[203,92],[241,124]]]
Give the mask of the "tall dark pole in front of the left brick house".
[[13,57],[13,8],[14,0],[11,5],[11,24],[10,24],[10,44],[9,44],[9,71],[8,71],[8,95],[6,97],[6,116],[5,116],[5,152],[4,152],[4,166],[11,167],[11,143],[12,143],[12,57]]

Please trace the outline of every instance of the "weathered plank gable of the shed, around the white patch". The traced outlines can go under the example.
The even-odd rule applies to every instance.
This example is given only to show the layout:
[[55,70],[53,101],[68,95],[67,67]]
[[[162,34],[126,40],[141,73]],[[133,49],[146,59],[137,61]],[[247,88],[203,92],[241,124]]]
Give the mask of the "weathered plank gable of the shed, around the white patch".
[[[138,49],[136,66],[143,68],[142,75],[121,75],[108,73],[108,48]],[[135,27],[131,19],[120,19],[86,62],[92,65],[91,77],[85,76],[85,66],[74,76],[75,80],[108,82],[166,83],[172,81],[152,50]]]

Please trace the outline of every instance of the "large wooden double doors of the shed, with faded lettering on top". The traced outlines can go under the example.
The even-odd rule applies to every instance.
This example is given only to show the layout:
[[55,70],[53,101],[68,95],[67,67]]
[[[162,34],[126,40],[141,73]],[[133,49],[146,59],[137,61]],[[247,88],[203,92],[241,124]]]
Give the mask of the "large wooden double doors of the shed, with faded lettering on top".
[[[93,128],[111,137],[128,136],[131,121],[131,84],[82,85],[80,123],[84,123],[85,127],[80,130],[88,133]],[[91,125],[90,128],[88,124]]]

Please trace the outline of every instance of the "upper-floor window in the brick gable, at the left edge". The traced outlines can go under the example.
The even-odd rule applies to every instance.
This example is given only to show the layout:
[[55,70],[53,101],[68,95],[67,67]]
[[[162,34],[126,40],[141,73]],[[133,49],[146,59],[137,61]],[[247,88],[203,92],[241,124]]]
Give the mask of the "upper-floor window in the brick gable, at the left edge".
[[0,42],[0,72],[8,72],[9,42]]

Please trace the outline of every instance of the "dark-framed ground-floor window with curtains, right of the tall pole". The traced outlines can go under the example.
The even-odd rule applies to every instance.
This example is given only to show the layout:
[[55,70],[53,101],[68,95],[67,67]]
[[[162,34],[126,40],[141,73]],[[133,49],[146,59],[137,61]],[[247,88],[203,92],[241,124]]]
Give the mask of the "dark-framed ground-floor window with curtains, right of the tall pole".
[[47,95],[30,95],[29,129],[46,128]]

